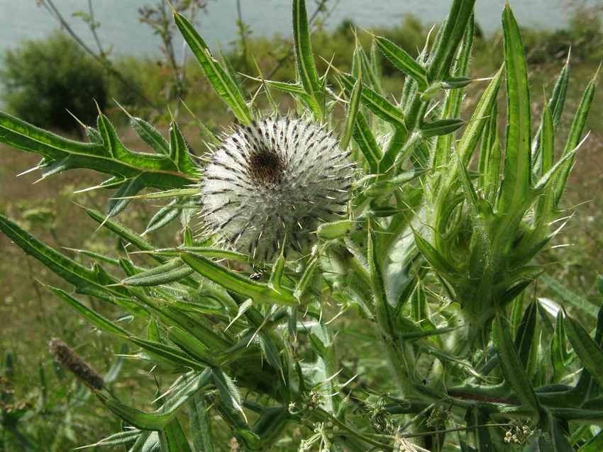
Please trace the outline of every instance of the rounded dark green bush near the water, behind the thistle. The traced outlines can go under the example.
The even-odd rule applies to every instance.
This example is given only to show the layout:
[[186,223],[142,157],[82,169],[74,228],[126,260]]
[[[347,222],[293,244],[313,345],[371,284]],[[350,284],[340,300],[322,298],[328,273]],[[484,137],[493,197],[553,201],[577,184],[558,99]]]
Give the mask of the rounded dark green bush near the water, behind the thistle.
[[73,113],[94,123],[92,99],[101,108],[109,89],[100,64],[63,33],[7,50],[0,64],[6,108],[34,125],[77,131]]

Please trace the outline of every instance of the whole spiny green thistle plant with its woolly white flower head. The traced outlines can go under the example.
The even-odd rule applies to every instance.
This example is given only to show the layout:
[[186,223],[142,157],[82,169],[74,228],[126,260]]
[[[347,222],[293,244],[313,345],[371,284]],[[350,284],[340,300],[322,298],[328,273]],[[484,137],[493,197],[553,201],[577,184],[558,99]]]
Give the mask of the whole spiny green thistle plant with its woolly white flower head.
[[[452,0],[416,58],[373,36],[370,49],[355,44],[350,74],[319,75],[305,1],[292,0],[297,80],[252,77],[274,106],[269,114],[174,11],[236,122],[221,136],[201,125],[210,150],[199,164],[175,123],[166,140],[131,117],[154,151],[137,153],[101,112],[96,128],[84,125],[89,142],[0,113],[0,141],[41,154],[43,177],[109,174],[94,187],[114,190],[106,212],[84,209],[141,253],[82,250],[89,268],[4,216],[0,230],[74,287],[48,286],[52,294],[133,344],[140,366],[177,375],[146,409],[92,385],[128,427],[96,446],[600,450],[603,311],[565,296],[569,315],[526,296],[538,278],[551,281],[534,258],[563,217],[597,76],[561,146],[569,58],[533,120],[510,6],[504,67],[487,83],[470,77],[474,3]],[[381,57],[406,77],[399,101],[382,88]],[[481,94],[463,120],[468,87]],[[277,111],[275,91],[293,98],[294,111]],[[145,232],[179,219],[182,243],[159,248],[118,222],[134,199],[167,200]],[[116,306],[146,334],[81,295]],[[597,319],[594,339],[579,315]]]

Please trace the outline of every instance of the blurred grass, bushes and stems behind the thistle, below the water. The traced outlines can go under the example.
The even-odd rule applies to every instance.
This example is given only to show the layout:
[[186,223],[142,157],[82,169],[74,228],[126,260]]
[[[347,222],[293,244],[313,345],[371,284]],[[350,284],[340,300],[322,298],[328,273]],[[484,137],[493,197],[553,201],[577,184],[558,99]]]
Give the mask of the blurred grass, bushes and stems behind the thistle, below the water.
[[[39,1],[54,6],[48,0]],[[207,3],[172,0],[172,4],[192,18],[201,11],[211,17],[211,1]],[[320,1],[322,7],[312,17],[313,46],[320,72],[326,71],[327,62],[349,71],[356,37],[365,48],[370,47],[370,35],[360,29],[356,34],[352,19],[341,22],[334,29],[326,28],[331,6],[336,3]],[[233,8],[235,5],[233,2]],[[60,31],[43,40],[23,42],[1,55],[3,110],[79,139],[82,128],[73,116],[82,123],[93,123],[96,118],[94,99],[99,108],[109,113],[111,120],[123,126],[120,133],[126,145],[143,151],[144,146],[126,128],[127,117],[118,108],[116,100],[129,113],[150,120],[164,130],[170,114],[175,115],[193,151],[204,152],[203,134],[190,112],[218,132],[232,118],[211,91],[197,62],[183,58],[175,48],[175,30],[165,4],[149,2],[138,11],[140,27],[150,27],[159,36],[162,57],[111,55],[110,50],[101,45],[99,36],[103,29],[94,21],[92,3],[89,6],[89,10],[67,18],[57,9],[52,16],[60,23]],[[546,98],[543,92],[550,94],[555,74],[570,47],[573,80],[568,91],[568,111],[575,109],[580,101],[580,91],[603,59],[601,11],[597,11],[597,6],[588,9],[574,3],[568,14],[568,26],[563,29],[522,30],[531,71],[534,115],[540,115]],[[52,19],[49,17],[49,20]],[[95,38],[94,46],[85,44],[74,33],[70,28],[73,21],[87,24]],[[257,77],[261,72],[265,78],[285,81],[294,78],[289,37],[256,35],[245,23],[240,8],[236,26],[238,38],[223,55],[234,71],[256,74]],[[387,36],[416,55],[417,49],[424,45],[429,28],[431,24],[422,22],[421,18],[405,16],[394,26],[372,31]],[[499,33],[486,35],[478,30],[477,38],[472,74],[476,78],[489,77],[501,63],[502,36]],[[383,72],[387,79],[385,89],[394,98],[399,97],[403,83],[400,73],[385,60]],[[243,83],[252,93],[260,88],[260,84],[252,79],[243,79]],[[477,97],[483,87],[480,82],[472,84],[468,96]],[[294,108],[286,96],[277,92],[271,94],[283,111]],[[258,98],[260,104],[266,102],[265,96]],[[568,114],[562,122],[565,131],[569,127],[569,117]],[[599,89],[590,115],[591,135],[580,150],[577,168],[568,186],[568,205],[565,207],[570,220],[543,257],[544,263],[548,264],[548,273],[556,276],[565,287],[597,304],[594,281],[597,273],[603,273],[602,118],[603,89]],[[563,132],[561,139],[565,140]],[[70,172],[34,183],[38,177],[35,172],[18,178],[16,174],[35,166],[35,157],[5,147],[0,149],[0,155],[0,212],[18,219],[33,235],[52,246],[67,249],[71,256],[81,257],[82,261],[85,258],[78,257],[77,252],[70,249],[89,249],[113,256],[124,252],[122,243],[109,238],[103,230],[96,230],[95,223],[75,205],[82,203],[102,210],[106,193],[74,194],[84,184],[91,185],[89,180],[94,179],[93,174],[76,171],[76,174]],[[120,220],[142,231],[156,210],[155,204],[137,203],[122,213]],[[178,234],[174,228],[162,230],[160,235],[151,233],[157,244],[166,245]],[[69,307],[53,299],[40,284],[43,281],[60,286],[53,274],[23,256],[21,250],[11,246],[4,236],[0,236],[0,249],[3,254],[0,259],[0,351],[4,355],[0,364],[0,451],[67,451],[94,443],[103,435],[120,429],[118,421],[89,397],[86,390],[55,367],[48,354],[48,340],[59,337],[70,344],[101,373],[107,373],[107,380],[113,381],[111,385],[122,395],[128,392],[140,394],[141,391],[153,393],[161,387],[161,381],[149,372],[150,369],[140,370],[138,366],[129,366],[127,359],[118,358],[116,355],[128,353],[121,349],[121,344],[97,334]],[[549,293],[546,287],[536,288],[534,295],[558,297]],[[98,302],[91,298],[89,303]],[[94,309],[115,317],[111,306],[94,305]],[[122,321],[128,322],[128,318]],[[348,326],[345,322],[349,321],[341,320],[342,327]],[[350,349],[355,349],[351,337]],[[378,358],[375,350],[361,353],[367,363]],[[358,350],[355,351],[357,354]],[[377,375],[379,366],[367,366],[366,370],[368,380],[380,378]],[[283,447],[283,450],[291,450],[287,445]]]

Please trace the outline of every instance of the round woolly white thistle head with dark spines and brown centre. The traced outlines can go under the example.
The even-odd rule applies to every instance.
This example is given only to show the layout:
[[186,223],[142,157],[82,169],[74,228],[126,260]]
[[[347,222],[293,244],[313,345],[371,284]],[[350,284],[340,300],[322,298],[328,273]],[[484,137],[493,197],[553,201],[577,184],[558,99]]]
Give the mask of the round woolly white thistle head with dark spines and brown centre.
[[302,252],[320,222],[341,214],[353,178],[349,152],[325,126],[265,118],[224,137],[201,178],[206,232],[267,261]]

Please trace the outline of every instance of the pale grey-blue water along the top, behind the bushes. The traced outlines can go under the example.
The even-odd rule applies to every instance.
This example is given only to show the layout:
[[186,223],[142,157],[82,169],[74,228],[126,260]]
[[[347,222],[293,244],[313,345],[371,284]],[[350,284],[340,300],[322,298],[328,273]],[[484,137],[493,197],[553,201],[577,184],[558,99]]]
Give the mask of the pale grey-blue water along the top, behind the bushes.
[[[93,0],[96,21],[101,23],[99,35],[104,45],[119,54],[144,53],[159,55],[159,39],[150,28],[138,21],[138,8],[160,0]],[[597,0],[590,0],[594,3]],[[475,14],[486,33],[499,28],[505,0],[477,0]],[[54,0],[74,30],[89,44],[92,34],[74,11],[87,11],[87,0]],[[315,0],[307,0],[309,13]],[[560,28],[568,21],[565,0],[509,0],[521,26]],[[424,23],[440,21],[446,15],[450,0],[329,0],[335,5],[326,23],[334,28],[344,18],[351,18],[364,28],[399,23],[406,13],[414,13]],[[254,35],[290,33],[291,0],[241,0],[243,19]],[[210,0],[208,14],[199,16],[199,30],[212,45],[228,47],[236,40],[236,0]],[[0,0],[0,51],[15,47],[23,39],[43,38],[57,28],[57,22],[35,0]]]

